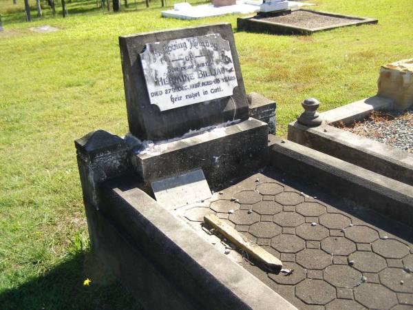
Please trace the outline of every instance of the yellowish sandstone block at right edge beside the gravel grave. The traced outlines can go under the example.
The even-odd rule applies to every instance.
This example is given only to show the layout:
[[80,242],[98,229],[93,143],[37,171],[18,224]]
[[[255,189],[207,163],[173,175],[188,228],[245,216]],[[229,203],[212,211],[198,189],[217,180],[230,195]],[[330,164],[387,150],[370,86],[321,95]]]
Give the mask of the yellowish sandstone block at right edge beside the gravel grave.
[[394,100],[394,108],[413,107],[413,59],[383,65],[377,82],[379,96]]

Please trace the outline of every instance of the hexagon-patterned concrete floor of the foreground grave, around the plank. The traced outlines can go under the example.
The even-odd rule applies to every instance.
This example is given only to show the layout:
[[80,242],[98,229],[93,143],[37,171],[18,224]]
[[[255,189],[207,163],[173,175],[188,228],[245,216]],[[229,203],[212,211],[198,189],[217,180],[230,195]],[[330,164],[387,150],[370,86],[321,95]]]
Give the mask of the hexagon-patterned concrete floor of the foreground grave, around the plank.
[[225,251],[220,239],[209,237],[298,309],[392,309],[412,303],[411,227],[277,169],[235,181],[204,204],[175,212],[198,229],[205,215],[215,214],[279,258],[292,273],[268,272],[246,252],[230,246]]

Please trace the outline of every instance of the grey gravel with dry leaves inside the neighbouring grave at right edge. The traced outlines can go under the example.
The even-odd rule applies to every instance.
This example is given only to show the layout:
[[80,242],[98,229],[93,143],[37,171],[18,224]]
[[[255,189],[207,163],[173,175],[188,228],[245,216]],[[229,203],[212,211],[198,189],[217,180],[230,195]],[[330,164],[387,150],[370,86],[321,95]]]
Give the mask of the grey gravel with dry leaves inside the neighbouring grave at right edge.
[[413,110],[374,112],[366,121],[339,127],[413,153]]

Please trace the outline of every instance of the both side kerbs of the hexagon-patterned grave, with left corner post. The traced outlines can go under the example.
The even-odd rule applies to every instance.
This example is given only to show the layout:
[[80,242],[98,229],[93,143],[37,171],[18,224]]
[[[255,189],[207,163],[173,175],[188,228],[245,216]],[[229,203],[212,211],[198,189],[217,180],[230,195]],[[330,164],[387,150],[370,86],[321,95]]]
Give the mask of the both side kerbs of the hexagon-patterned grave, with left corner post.
[[[275,169],[413,226],[413,187],[271,136]],[[75,142],[94,253],[148,309],[295,309],[128,176],[125,141],[103,130]],[[335,184],[332,189],[331,185]],[[202,292],[202,293],[200,293]]]

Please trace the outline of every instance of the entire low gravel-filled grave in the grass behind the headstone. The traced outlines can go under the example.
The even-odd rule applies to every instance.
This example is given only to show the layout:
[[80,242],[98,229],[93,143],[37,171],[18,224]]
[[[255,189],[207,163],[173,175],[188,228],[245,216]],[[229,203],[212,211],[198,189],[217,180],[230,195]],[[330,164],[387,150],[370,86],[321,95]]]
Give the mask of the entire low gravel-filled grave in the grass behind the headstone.
[[237,29],[273,34],[312,34],[350,25],[377,23],[377,19],[352,17],[343,14],[313,10],[293,10],[290,12],[258,13],[255,17],[237,19]]

